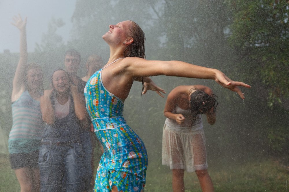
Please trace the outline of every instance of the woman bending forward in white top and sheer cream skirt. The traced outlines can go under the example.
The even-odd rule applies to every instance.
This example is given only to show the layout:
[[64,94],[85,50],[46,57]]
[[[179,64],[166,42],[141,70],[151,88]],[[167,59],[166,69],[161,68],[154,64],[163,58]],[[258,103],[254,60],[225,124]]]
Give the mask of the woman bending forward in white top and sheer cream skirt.
[[201,114],[209,124],[216,121],[216,106],[212,90],[203,85],[181,85],[174,88],[166,100],[167,117],[162,141],[162,164],[173,172],[173,191],[183,192],[184,170],[195,171],[203,191],[214,191],[208,174],[205,134]]

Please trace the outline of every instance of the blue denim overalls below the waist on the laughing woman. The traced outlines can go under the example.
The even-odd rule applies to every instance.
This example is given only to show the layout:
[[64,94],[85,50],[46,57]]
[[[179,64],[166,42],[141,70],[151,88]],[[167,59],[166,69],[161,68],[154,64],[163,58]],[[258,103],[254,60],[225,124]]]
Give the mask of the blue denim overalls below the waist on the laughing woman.
[[40,191],[83,191],[85,152],[80,143],[44,144],[39,150]]

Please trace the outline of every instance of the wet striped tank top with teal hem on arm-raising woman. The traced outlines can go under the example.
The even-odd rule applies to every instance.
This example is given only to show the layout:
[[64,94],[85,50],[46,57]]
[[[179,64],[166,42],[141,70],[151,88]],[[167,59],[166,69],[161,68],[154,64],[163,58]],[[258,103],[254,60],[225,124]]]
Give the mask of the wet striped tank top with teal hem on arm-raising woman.
[[30,153],[40,146],[44,123],[40,102],[34,100],[26,90],[12,103],[13,125],[9,134],[9,153]]

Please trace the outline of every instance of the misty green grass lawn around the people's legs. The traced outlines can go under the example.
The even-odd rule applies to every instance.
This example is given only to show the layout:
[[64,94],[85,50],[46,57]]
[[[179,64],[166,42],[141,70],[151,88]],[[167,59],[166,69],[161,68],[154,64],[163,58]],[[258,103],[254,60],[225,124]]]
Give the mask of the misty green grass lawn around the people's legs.
[[[96,165],[97,166],[97,165]],[[247,161],[209,162],[209,174],[215,191],[289,191],[289,171],[270,158],[251,158]],[[0,191],[20,191],[9,156],[0,155]],[[149,162],[145,192],[172,191],[171,170],[160,159]],[[201,191],[196,174],[185,172],[186,192]],[[286,183],[287,182],[287,183]],[[286,189],[287,184],[287,189]]]

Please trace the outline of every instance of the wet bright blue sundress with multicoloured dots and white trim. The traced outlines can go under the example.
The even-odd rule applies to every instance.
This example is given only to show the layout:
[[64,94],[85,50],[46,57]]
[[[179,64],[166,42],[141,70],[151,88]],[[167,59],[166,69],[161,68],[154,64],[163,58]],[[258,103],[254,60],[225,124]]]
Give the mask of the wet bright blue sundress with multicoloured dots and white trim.
[[118,191],[143,191],[146,148],[123,118],[123,100],[103,86],[102,69],[88,79],[84,88],[86,109],[104,149],[97,168],[95,191],[109,192],[114,185]]

